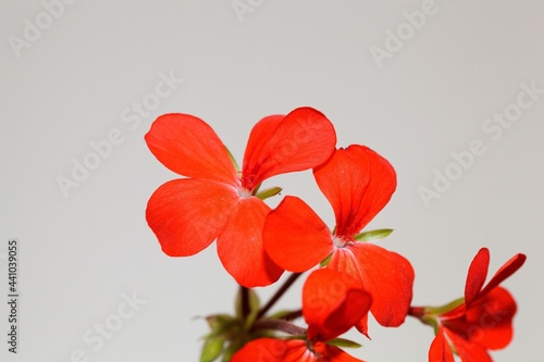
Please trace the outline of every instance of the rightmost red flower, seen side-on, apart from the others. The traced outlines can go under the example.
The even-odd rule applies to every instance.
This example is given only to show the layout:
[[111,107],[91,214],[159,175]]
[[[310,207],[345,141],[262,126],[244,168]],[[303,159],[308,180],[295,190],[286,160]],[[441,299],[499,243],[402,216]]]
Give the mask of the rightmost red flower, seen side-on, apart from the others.
[[[524,254],[517,254],[495,273],[487,276],[490,252],[481,249],[470,264],[465,287],[465,300],[453,310],[426,317],[438,324],[436,337],[429,351],[430,362],[453,362],[450,345],[463,362],[492,362],[487,350],[502,349],[512,338],[512,319],[516,301],[498,285],[523,265]],[[428,312],[429,313],[429,312]]]

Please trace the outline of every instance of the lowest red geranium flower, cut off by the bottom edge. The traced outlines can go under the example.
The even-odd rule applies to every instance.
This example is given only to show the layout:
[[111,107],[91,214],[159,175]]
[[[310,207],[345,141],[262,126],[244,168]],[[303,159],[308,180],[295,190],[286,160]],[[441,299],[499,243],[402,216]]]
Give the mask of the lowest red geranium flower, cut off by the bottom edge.
[[351,278],[334,270],[317,270],[302,288],[302,315],[308,323],[304,339],[255,339],[231,362],[362,362],[327,341],[351,328],[370,303],[370,295]]

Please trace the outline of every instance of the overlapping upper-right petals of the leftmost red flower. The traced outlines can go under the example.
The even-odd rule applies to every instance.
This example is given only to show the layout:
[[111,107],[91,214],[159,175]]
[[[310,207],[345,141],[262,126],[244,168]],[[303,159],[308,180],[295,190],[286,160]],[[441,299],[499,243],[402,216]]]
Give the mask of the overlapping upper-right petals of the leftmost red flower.
[[316,167],[331,157],[335,143],[333,125],[311,108],[298,108],[281,120],[267,117],[249,136],[242,183],[252,190],[269,177]]

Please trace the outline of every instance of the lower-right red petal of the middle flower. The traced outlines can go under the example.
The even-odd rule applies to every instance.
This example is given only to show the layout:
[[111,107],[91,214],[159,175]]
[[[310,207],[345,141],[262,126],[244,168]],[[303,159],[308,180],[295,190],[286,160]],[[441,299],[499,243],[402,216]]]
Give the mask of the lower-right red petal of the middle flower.
[[405,321],[412,298],[413,269],[404,257],[369,242],[338,248],[327,267],[361,280],[372,297],[370,311],[383,326]]

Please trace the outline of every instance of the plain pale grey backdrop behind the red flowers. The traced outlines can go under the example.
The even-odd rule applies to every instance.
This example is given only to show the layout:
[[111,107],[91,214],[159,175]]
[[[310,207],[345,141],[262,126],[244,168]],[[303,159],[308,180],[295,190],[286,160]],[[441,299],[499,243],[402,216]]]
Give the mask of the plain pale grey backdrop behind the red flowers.
[[[1,0],[0,300],[10,238],[21,298],[16,355],[0,303],[0,360],[198,361],[198,316],[231,312],[237,288],[214,245],[185,259],[160,250],[145,208],[177,176],[144,135],[160,114],[190,113],[242,160],[258,120],[309,105],[338,146],[367,145],[396,168],[397,190],[368,228],[395,229],[380,245],[412,262],[415,304],[462,296],[481,247],[490,276],[528,254],[504,283],[519,307],[515,338],[493,358],[541,361],[544,95],[519,95],[544,89],[543,16],[537,0]],[[493,121],[504,112],[514,121]],[[97,158],[109,137],[116,145]],[[94,170],[74,180],[84,162]],[[446,172],[455,179],[441,184]],[[63,192],[69,178],[77,187]],[[310,172],[265,185],[284,187],[271,207],[298,195],[333,226]],[[300,287],[279,308],[296,308]],[[411,319],[370,333],[348,335],[367,361],[425,361],[433,337]]]

